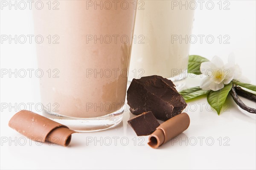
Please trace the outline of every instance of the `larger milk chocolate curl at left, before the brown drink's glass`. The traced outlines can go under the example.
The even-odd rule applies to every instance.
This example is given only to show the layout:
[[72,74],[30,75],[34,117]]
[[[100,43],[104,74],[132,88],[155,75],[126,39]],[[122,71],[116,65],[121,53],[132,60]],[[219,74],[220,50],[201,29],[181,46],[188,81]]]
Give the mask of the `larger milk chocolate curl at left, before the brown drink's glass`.
[[20,111],[12,116],[9,127],[34,141],[51,142],[67,146],[75,131],[31,111]]

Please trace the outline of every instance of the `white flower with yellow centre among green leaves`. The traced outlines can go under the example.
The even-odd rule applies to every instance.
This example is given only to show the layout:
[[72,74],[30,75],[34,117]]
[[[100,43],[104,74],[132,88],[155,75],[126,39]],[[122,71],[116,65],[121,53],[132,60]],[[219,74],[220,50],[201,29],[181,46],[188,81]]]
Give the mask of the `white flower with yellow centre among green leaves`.
[[229,56],[228,63],[225,65],[220,57],[215,56],[210,62],[202,62],[200,70],[207,76],[200,84],[200,88],[204,90],[218,91],[233,79],[248,82],[248,79],[242,77],[241,68],[236,65],[233,55]]

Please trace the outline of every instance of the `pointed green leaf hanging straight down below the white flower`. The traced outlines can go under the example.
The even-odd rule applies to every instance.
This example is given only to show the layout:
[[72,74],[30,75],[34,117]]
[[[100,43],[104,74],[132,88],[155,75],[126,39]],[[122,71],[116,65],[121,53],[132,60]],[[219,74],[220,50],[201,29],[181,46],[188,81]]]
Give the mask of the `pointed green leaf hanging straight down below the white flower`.
[[233,83],[230,82],[218,91],[211,91],[207,96],[208,103],[217,111],[218,115],[221,113],[221,108],[224,105],[232,86]]

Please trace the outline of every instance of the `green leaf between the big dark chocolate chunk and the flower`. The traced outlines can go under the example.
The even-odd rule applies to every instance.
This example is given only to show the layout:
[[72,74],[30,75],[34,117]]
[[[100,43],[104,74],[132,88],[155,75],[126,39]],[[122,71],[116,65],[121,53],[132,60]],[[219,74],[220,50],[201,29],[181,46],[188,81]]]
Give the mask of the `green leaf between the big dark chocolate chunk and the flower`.
[[186,90],[180,91],[180,95],[183,96],[185,100],[194,99],[198,96],[208,94],[210,91],[202,90],[199,87],[188,88]]

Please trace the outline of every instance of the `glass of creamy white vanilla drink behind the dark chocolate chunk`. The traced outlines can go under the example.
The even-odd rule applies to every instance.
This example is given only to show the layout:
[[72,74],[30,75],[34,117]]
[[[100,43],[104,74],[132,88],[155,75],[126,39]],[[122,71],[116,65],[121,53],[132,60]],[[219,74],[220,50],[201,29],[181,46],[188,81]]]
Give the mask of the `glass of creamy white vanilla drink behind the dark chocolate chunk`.
[[[129,81],[160,75],[185,85],[195,1],[139,0]],[[136,39],[135,39],[136,38]]]

